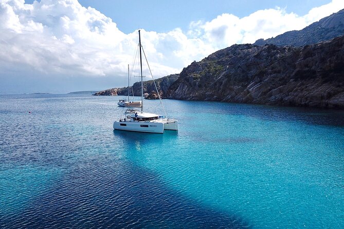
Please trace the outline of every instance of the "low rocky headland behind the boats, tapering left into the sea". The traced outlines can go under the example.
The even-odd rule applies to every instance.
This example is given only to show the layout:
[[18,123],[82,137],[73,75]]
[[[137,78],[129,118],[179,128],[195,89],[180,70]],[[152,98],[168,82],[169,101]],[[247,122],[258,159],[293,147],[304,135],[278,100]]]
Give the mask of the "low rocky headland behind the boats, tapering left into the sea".
[[[156,87],[159,91],[160,97],[165,97],[165,92],[168,90],[168,88],[171,86],[172,83],[174,83],[179,77],[179,74],[171,74],[167,77],[162,77],[160,79],[155,80]],[[134,96],[140,96],[141,94],[141,82],[136,82],[130,88],[130,94],[132,95],[132,89],[134,91]],[[143,93],[156,93],[155,85],[153,80],[150,81],[144,81],[143,82]],[[103,91],[98,91],[94,96],[126,96],[128,95],[128,87],[122,87],[122,88],[111,88],[106,89]],[[150,99],[155,99],[155,97],[148,96]]]

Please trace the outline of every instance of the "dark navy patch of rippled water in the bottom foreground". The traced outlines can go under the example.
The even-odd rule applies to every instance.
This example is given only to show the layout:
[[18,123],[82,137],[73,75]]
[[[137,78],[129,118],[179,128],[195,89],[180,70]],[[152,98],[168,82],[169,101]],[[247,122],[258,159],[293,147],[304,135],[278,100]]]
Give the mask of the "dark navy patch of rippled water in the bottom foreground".
[[[104,165],[104,162],[106,165]],[[228,194],[230,195],[230,194]],[[157,174],[116,157],[83,158],[5,228],[250,228],[246,220],[186,196]]]

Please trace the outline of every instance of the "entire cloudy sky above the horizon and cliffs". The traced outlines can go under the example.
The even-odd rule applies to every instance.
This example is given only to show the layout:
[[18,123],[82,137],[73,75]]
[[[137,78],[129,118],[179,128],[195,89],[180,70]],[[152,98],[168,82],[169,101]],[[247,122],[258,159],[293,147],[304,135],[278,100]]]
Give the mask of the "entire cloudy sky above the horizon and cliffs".
[[343,8],[343,0],[0,0],[0,94],[126,86],[138,29],[157,79]]

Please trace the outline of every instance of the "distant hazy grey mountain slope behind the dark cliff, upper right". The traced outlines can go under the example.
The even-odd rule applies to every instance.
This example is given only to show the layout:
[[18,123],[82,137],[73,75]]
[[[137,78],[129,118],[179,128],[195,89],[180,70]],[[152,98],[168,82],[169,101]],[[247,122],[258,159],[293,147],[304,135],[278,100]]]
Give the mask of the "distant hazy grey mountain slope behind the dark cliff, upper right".
[[333,39],[344,34],[344,9],[322,18],[302,30],[285,32],[270,39],[260,39],[254,45],[305,46]]

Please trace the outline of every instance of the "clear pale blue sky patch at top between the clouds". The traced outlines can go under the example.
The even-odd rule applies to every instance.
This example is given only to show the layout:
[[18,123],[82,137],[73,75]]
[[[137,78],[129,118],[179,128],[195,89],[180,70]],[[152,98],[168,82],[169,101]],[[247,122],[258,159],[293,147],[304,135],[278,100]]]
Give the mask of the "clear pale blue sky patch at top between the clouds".
[[[26,3],[32,3],[33,0]],[[168,32],[174,28],[187,30],[192,21],[210,21],[222,13],[244,17],[257,10],[281,7],[287,12],[306,14],[310,9],[329,3],[329,0],[80,0],[84,7],[93,7],[117,24],[124,33],[138,28]]]

